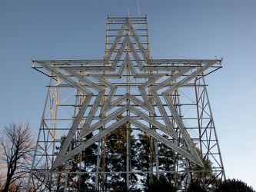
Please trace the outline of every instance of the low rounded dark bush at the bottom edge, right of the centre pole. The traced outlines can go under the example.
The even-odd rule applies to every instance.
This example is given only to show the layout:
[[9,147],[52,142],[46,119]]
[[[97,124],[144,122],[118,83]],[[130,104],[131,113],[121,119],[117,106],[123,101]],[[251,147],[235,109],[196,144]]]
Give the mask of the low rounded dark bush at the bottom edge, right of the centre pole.
[[166,177],[161,176],[159,180],[155,177],[153,181],[148,184],[145,188],[145,192],[155,192],[155,191],[161,191],[161,192],[176,192],[177,187],[173,186]]

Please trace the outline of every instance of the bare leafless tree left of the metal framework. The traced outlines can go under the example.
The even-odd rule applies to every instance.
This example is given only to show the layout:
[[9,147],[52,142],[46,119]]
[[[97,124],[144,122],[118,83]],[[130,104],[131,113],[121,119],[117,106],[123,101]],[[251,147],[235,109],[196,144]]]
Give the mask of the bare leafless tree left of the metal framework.
[[5,167],[2,192],[22,191],[35,151],[35,139],[29,123],[5,126],[0,137],[0,164]]

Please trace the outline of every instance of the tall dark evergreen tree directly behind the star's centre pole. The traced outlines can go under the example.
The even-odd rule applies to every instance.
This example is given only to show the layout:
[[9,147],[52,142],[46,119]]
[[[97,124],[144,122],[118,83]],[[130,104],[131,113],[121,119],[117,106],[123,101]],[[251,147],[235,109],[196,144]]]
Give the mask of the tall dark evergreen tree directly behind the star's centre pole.
[[[122,116],[118,117],[118,121]],[[127,139],[129,138],[129,151],[127,151]],[[122,124],[118,129],[112,131],[107,136],[105,146],[105,171],[114,172],[113,174],[105,174],[105,190],[111,191],[135,191],[138,178],[135,174],[131,174],[129,178],[129,185],[132,189],[127,189],[127,178],[125,172],[127,164],[133,166],[136,162],[135,158],[135,140],[131,135],[130,124]],[[128,154],[130,154],[128,156]],[[120,174],[117,174],[120,172]]]

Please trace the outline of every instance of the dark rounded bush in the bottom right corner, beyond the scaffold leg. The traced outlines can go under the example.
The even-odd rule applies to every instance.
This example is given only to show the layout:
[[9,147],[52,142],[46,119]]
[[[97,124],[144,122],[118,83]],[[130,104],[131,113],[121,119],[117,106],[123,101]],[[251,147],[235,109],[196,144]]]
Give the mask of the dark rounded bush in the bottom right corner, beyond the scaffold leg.
[[255,192],[252,187],[249,187],[241,180],[235,179],[228,179],[224,180],[219,184],[218,189],[215,192],[234,192],[234,191],[241,191],[241,192]]

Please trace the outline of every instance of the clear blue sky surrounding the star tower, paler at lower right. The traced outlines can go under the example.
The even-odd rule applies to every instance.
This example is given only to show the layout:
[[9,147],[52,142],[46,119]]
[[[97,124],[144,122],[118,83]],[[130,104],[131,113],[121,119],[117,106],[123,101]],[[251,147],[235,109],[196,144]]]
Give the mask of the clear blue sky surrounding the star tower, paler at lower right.
[[[139,0],[152,58],[224,58],[210,74],[211,109],[226,175],[256,189],[256,1]],[[138,15],[137,0],[0,1],[0,131],[42,117],[49,79],[32,59],[102,58],[109,15]]]

